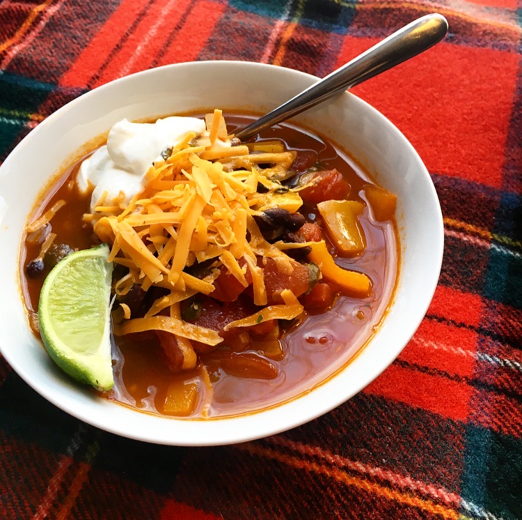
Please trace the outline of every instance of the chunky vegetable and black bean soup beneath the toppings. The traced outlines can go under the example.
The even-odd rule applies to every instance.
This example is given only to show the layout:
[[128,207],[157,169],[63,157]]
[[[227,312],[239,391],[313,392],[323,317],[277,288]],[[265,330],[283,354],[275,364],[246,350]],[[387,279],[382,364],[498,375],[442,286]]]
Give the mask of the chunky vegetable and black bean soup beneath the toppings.
[[[232,134],[252,119],[244,114],[225,114],[227,130]],[[121,333],[126,313],[130,315],[127,323],[148,314],[168,314],[168,307],[160,308],[158,303],[169,297],[165,287],[145,285],[143,289],[138,283],[127,284],[113,305],[115,384],[102,394],[104,398],[141,411],[178,417],[249,413],[296,397],[325,381],[349,362],[379,326],[397,280],[399,248],[393,194],[379,188],[341,148],[303,128],[276,125],[246,145],[246,154],[219,160],[228,164],[228,171],[251,168],[256,176],[262,175],[251,194],[255,201],[249,206],[253,210],[248,218],[253,218],[248,220],[246,237],[252,243],[253,235],[260,233],[267,254],[257,254],[255,265],[245,261],[238,261],[238,265],[246,276],[256,268],[263,271],[267,300],[261,305],[260,300],[256,302],[259,294],[252,277],[241,284],[241,273],[234,276],[234,266],[216,266],[216,257],[202,256],[200,261],[195,258],[184,266],[184,273],[190,275],[187,280],[204,280],[206,276],[214,290],[208,294],[191,291],[188,298],[176,303],[176,312],[183,321],[216,330],[223,338],[216,345],[189,340],[196,358],[187,363],[186,350],[178,348],[175,341],[173,346],[172,335],[155,330]],[[203,145],[196,139],[191,146]],[[164,162],[168,162],[171,156],[164,155]],[[77,182],[86,158],[71,165],[35,208],[35,219],[58,208],[52,221],[38,230],[40,234],[24,237],[22,282],[37,335],[35,309],[52,265],[71,250],[88,249],[106,238],[100,239],[100,234],[93,232],[93,218],[89,218],[93,215],[92,186],[81,190]],[[161,168],[161,160],[158,164]],[[175,182],[158,181],[158,186],[166,192]],[[145,199],[146,195],[141,197]],[[65,201],[63,206],[61,201]],[[98,213],[96,225],[100,228],[103,212]],[[106,215],[111,216],[110,211]],[[143,227],[136,229],[144,231]],[[47,260],[35,266],[34,260],[42,257],[42,242],[51,231],[54,240],[45,255]],[[143,236],[148,240],[151,234],[146,233]],[[157,257],[168,244],[168,233],[161,233],[164,238],[158,239],[159,247],[150,247]],[[278,251],[289,260],[280,260],[274,248],[280,248]],[[326,260],[333,257],[335,266],[327,275]],[[116,290],[126,284],[124,279],[129,275],[123,260],[115,264],[113,284],[120,283]],[[317,269],[318,263],[324,272]],[[367,288],[354,288],[335,279],[345,272],[365,277]],[[281,294],[285,296],[288,287],[291,290],[285,299]],[[154,305],[157,312],[151,312]],[[267,319],[269,307],[285,306],[296,311],[286,318]],[[255,323],[224,330],[232,321],[252,316]]]

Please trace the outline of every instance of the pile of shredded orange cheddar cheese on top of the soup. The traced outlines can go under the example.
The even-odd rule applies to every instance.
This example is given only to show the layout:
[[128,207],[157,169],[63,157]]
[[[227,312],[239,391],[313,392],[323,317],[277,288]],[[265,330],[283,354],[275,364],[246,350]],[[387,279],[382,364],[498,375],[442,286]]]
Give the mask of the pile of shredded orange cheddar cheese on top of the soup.
[[[293,152],[252,154],[247,146],[223,146],[227,139],[221,111],[207,116],[205,135],[187,135],[168,149],[145,176],[145,189],[128,205],[98,201],[92,220],[95,234],[112,245],[109,261],[125,266],[127,274],[114,290],[124,296],[134,284],[147,291],[151,286],[169,289],[144,317],[133,318],[127,305],[117,335],[143,330],[164,330],[177,338],[184,350],[186,367],[196,362],[190,341],[216,345],[222,342],[215,330],[182,321],[180,302],[196,293],[211,295],[213,282],[226,268],[243,286],[247,266],[253,285],[253,302],[262,307],[227,329],[248,327],[260,319],[294,319],[303,307],[292,291],[281,293],[284,303],[267,305],[263,269],[258,258],[272,258],[281,272],[292,271],[285,252],[265,240],[254,215],[267,208],[296,211],[302,201],[297,192],[281,190],[272,173],[288,169]],[[263,193],[258,185],[263,185]],[[212,261],[204,277],[187,268]],[[168,315],[167,315],[168,314]]]

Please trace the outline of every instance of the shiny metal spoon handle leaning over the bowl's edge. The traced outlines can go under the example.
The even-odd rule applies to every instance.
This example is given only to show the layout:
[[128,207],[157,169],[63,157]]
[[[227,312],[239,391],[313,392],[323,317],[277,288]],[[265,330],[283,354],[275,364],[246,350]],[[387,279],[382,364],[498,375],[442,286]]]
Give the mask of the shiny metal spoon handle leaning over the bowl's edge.
[[448,22],[443,15],[434,13],[418,18],[280,107],[235,132],[235,136],[246,139],[256,132],[315,107],[334,95],[424,52],[441,41],[447,31]]

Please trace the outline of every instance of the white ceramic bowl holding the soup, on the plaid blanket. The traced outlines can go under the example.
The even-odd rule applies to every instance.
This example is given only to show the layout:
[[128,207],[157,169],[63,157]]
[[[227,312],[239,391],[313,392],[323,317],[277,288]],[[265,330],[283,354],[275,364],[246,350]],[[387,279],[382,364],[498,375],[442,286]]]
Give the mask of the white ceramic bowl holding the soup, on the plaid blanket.
[[[295,118],[345,146],[398,196],[402,254],[393,304],[376,335],[345,369],[297,399],[251,415],[177,420],[93,395],[63,375],[31,334],[19,282],[20,238],[49,179],[113,123],[220,107],[267,112],[317,81],[286,68],[234,61],[181,63],[139,72],[91,91],[40,123],[0,167],[0,347],[37,392],[107,431],[169,445],[248,441],[298,426],[363,389],[399,355],[432,299],[443,253],[441,209],[427,169],[406,138],[350,93]],[[334,132],[335,129],[335,132]]]

